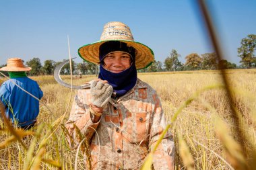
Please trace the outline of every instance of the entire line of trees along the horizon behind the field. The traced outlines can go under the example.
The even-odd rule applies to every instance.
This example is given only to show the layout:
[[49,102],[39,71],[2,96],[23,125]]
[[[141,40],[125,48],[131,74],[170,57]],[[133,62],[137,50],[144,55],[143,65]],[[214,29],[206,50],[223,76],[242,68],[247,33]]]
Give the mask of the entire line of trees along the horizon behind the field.
[[[256,67],[256,35],[249,34],[246,38],[241,40],[241,46],[237,48],[238,57],[241,58],[241,65],[231,63],[228,60],[218,60],[218,56],[215,52],[197,54],[191,53],[185,56],[185,63],[179,60],[181,54],[177,50],[172,49],[169,56],[166,57],[164,62],[156,61],[146,69],[141,69],[139,73],[145,72],[158,72],[158,71],[195,71],[195,70],[214,70],[214,69],[251,69]],[[62,61],[63,62],[63,61]],[[39,58],[32,58],[32,60],[26,61],[26,65],[31,67],[32,70],[28,75],[53,75],[53,71],[59,65],[61,61],[55,62],[54,60],[45,60],[42,66]],[[98,66],[83,61],[81,63],[75,63],[72,61],[73,75],[92,75],[98,72]],[[3,67],[5,65],[1,65]],[[69,64],[65,65],[61,70],[62,75],[69,75]]]

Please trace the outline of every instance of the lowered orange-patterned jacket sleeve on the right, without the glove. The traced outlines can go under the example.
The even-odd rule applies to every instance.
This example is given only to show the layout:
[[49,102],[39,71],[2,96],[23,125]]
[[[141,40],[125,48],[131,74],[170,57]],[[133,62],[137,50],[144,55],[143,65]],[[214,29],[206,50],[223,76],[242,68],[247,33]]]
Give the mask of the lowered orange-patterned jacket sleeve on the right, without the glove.
[[[154,109],[152,110],[153,120],[150,131],[151,149],[154,148],[156,141],[160,138],[162,132],[166,128],[166,120],[164,118],[160,98],[156,93],[152,95],[152,97]],[[167,132],[162,139],[162,142],[158,145],[158,148],[154,153],[153,165],[155,170],[174,170],[174,141],[170,132]]]

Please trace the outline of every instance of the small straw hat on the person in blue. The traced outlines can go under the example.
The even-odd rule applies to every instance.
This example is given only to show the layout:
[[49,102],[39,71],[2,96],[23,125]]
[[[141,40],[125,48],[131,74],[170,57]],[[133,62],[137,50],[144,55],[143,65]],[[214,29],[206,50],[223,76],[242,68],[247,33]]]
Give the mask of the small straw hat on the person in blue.
[[7,66],[2,67],[0,71],[30,71],[30,67],[23,65],[21,58],[9,58],[7,60]]

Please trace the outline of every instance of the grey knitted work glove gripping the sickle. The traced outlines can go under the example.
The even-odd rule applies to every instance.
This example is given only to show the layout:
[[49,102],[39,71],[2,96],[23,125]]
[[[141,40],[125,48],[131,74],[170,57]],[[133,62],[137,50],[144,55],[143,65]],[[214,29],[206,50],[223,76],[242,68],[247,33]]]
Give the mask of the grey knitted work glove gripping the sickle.
[[113,93],[113,87],[108,83],[102,83],[96,80],[91,81],[90,87],[92,104],[100,108],[104,108]]

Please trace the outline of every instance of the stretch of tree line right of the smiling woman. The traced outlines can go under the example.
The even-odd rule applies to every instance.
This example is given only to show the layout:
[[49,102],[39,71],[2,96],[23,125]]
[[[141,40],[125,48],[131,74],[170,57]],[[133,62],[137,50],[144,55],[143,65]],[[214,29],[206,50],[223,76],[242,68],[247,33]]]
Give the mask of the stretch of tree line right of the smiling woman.
[[140,72],[156,72],[156,71],[191,71],[191,70],[214,70],[214,69],[251,69],[256,67],[256,35],[249,34],[241,40],[241,46],[237,48],[238,57],[241,58],[241,65],[228,60],[218,60],[215,52],[197,54],[191,53],[185,56],[185,63],[179,60],[181,54],[177,50],[172,49],[169,56],[164,60],[164,65],[160,61],[154,61],[150,67]]

